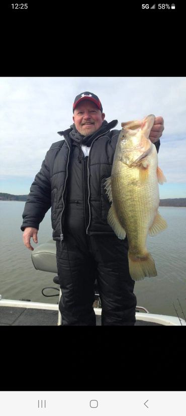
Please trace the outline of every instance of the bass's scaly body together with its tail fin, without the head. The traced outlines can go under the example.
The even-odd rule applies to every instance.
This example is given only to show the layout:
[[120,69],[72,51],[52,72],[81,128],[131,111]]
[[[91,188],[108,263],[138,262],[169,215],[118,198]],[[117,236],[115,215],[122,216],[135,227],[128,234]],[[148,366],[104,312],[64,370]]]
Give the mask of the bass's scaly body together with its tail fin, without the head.
[[[140,280],[145,276],[156,276],[154,261],[146,249],[147,234],[159,205],[156,170],[149,167],[148,177],[141,183],[139,167],[128,167],[117,161],[113,165],[111,184],[114,208],[128,238],[131,277]],[[144,262],[146,266],[142,270]]]

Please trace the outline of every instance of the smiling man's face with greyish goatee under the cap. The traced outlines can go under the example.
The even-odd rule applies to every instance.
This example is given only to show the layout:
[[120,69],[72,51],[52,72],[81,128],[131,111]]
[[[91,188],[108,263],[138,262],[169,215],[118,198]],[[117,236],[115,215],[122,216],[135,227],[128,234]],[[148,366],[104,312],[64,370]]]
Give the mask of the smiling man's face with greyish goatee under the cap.
[[83,100],[80,102],[73,114],[73,122],[77,131],[83,136],[95,133],[100,129],[104,121],[105,114],[97,107],[94,102]]

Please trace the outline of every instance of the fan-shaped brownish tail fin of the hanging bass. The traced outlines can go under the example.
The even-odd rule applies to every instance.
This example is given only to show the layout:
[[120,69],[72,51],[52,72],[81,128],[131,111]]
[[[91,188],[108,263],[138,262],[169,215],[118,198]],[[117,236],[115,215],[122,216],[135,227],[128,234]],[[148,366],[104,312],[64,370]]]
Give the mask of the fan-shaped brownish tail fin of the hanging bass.
[[128,252],[129,271],[133,280],[142,280],[146,276],[157,276],[154,260],[150,253],[145,253],[142,256],[135,256]]

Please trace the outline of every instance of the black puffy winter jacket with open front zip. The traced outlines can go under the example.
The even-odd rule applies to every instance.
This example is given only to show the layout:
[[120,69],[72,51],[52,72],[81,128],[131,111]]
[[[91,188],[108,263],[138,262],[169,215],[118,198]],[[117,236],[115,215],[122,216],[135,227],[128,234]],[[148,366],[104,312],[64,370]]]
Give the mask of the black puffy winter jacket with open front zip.
[[[72,143],[71,129],[58,132],[64,140],[53,143],[30,188],[23,212],[25,227],[39,229],[51,207],[53,240],[65,239],[65,228],[82,222],[86,234],[113,234],[107,222],[110,208],[105,181],[111,176],[113,158],[120,130],[112,130],[117,121],[108,123],[104,133],[96,135],[88,157]],[[160,142],[156,142],[158,151]],[[79,213],[81,215],[79,215]]]

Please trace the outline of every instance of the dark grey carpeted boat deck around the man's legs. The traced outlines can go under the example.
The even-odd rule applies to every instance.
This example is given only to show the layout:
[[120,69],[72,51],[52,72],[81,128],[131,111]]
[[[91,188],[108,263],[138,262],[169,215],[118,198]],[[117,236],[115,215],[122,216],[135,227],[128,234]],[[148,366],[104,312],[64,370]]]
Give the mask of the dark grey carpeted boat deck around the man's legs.
[[[57,326],[58,311],[1,307],[0,308],[0,326]],[[101,326],[101,316],[96,315],[97,326]],[[158,325],[154,322],[136,320],[135,325]]]

